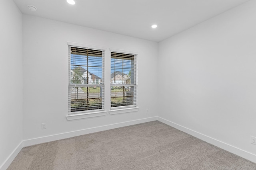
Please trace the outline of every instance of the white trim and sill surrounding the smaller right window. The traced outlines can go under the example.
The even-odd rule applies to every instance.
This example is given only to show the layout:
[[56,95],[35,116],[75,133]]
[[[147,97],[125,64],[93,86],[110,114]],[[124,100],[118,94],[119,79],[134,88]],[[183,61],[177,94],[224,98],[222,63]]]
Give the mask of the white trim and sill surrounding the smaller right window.
[[[110,53],[114,52],[114,53],[124,53],[124,54],[131,54],[134,55],[136,57],[136,63],[135,63],[135,67],[134,69],[136,70],[136,74],[135,74],[135,85],[136,86],[136,104],[135,105],[130,105],[130,106],[117,106],[117,107],[111,107],[111,90],[110,90],[110,110],[109,110],[109,114],[119,114],[119,113],[128,113],[128,112],[134,112],[134,111],[138,111],[139,107],[138,107],[138,52],[135,51],[128,51],[128,50],[122,50],[122,49],[114,49],[114,48],[109,48]],[[113,86],[115,84],[111,84],[110,82],[110,87]],[[121,84],[119,85],[121,86]]]

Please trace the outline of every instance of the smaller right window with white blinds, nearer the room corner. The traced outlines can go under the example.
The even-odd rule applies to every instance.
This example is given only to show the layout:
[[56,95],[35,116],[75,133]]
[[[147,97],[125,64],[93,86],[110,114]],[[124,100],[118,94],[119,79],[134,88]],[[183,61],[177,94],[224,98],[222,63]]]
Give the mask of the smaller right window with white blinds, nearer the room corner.
[[111,50],[111,108],[137,106],[136,54]]

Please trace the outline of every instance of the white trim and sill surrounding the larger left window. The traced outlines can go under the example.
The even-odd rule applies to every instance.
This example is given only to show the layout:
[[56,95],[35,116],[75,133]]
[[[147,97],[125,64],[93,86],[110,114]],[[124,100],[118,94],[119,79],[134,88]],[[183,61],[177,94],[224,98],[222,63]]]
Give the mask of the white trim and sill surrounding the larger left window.
[[[95,49],[95,50],[100,50],[104,53],[104,55],[102,55],[102,87],[104,87],[104,89],[106,88],[106,82],[105,82],[105,53],[106,53],[106,48],[104,47],[99,47],[99,46],[93,46],[93,45],[86,45],[86,44],[81,44],[81,43],[74,43],[74,42],[67,42],[68,45],[68,100],[70,100],[70,78],[71,78],[71,71],[70,71],[70,63],[71,63],[71,59],[70,59],[70,50],[69,50],[69,46],[74,46],[74,47],[80,47],[80,48],[84,48],[84,49]],[[97,84],[87,84],[88,87],[89,86],[97,86]],[[75,85],[74,85],[75,86]],[[99,85],[98,85],[99,86]],[[104,116],[106,115],[105,111],[105,92],[102,93],[103,94],[103,98],[104,98],[104,103],[102,104],[103,108],[102,109],[95,109],[95,110],[84,110],[84,111],[74,111],[71,112],[70,109],[68,108],[68,115],[66,115],[67,120],[74,120],[74,119],[83,119],[83,118],[89,118],[89,117],[98,117],[98,116]],[[68,102],[68,106],[69,106],[70,102]]]

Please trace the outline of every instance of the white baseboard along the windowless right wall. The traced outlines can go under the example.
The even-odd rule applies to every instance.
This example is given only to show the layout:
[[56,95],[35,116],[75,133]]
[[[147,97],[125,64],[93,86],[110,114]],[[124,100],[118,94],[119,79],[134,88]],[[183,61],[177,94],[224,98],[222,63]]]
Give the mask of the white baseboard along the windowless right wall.
[[242,150],[242,149],[239,149],[237,147],[234,147],[232,145],[229,145],[227,143],[224,143],[222,141],[219,141],[217,139],[214,139],[212,137],[209,137],[209,136],[206,136],[202,133],[199,133],[199,132],[196,132],[196,131],[193,131],[192,129],[188,129],[184,126],[181,126],[181,125],[178,125],[176,123],[173,123],[171,121],[168,121],[166,119],[163,119],[162,117],[158,117],[158,121],[162,122],[162,123],[165,123],[166,125],[169,125],[169,126],[172,126],[180,131],[183,131],[185,133],[188,133],[198,139],[201,139],[207,143],[210,143],[216,147],[219,147],[221,149],[224,149],[224,150],[227,150],[228,152],[231,152],[233,154],[236,154],[238,156],[241,156],[242,158],[245,158],[245,159],[248,159],[254,163],[256,163],[256,155],[255,154],[252,154],[250,152],[247,152],[245,150]]

